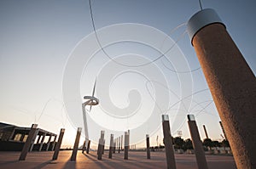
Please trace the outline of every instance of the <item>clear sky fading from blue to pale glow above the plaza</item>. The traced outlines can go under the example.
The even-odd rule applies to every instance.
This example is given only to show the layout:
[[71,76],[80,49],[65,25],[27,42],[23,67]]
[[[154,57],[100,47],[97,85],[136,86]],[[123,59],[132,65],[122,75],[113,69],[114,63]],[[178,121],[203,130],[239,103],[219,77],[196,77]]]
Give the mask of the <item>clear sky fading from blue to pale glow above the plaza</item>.
[[[256,3],[201,3],[217,11],[255,75]],[[91,0],[91,8],[97,34],[87,0],[0,1],[0,121],[55,133],[65,127],[63,146],[72,147],[84,127],[83,97],[97,79],[100,104],[87,112],[95,144],[101,130],[107,144],[110,133],[127,130],[131,144],[145,146],[146,134],[161,143],[163,114],[173,136],[189,138],[185,115],[194,114],[201,138],[205,124],[210,138],[221,140],[218,111],[185,32],[198,1]]]

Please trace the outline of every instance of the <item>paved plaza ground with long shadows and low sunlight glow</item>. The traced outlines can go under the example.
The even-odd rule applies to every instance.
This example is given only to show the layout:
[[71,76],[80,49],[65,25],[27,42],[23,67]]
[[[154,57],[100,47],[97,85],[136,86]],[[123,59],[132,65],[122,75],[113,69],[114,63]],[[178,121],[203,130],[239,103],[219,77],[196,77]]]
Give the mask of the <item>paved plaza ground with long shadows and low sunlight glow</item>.
[[[167,168],[164,152],[151,152],[151,159],[146,159],[146,152],[129,152],[129,160],[124,160],[124,154],[113,154],[113,159],[108,159],[108,151],[102,156],[102,161],[97,160],[96,152],[83,155],[78,152],[77,161],[70,161],[72,151],[61,151],[58,160],[51,161],[53,152],[31,152],[26,156],[26,161],[18,161],[20,152],[1,152],[0,168],[93,168],[93,169],[138,169],[138,168]],[[195,155],[175,155],[177,169],[195,169]],[[236,168],[232,156],[207,155],[209,169]]]

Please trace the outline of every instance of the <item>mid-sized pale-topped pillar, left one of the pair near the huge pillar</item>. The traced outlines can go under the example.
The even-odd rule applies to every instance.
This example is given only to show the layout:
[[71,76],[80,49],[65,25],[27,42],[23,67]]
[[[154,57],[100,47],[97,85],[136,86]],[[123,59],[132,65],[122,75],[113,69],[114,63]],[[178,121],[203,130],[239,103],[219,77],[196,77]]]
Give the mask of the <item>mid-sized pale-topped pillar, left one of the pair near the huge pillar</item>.
[[170,130],[169,116],[162,115],[162,126],[164,132],[164,144],[166,149],[166,164],[168,169],[176,169],[174,151],[172,147],[172,136]]

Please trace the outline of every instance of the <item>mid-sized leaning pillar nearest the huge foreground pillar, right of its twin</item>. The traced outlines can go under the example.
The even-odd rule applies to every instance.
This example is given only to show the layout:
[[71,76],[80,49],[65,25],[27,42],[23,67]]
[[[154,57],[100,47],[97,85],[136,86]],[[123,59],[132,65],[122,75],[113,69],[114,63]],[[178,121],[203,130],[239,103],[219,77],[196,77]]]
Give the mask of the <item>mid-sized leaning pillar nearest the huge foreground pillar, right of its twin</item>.
[[194,115],[188,115],[189,132],[192,138],[193,148],[195,149],[195,157],[198,169],[207,169],[207,159],[205,151],[202,147],[201,138],[195,122]]

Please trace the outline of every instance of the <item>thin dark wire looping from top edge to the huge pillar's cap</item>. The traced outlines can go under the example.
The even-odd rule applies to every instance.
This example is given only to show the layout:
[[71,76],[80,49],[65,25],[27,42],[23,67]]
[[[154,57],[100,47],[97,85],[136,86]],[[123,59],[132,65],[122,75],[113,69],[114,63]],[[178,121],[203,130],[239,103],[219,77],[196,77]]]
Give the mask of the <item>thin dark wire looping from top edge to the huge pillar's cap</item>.
[[[123,65],[125,67],[141,67],[141,66],[144,66],[144,65],[149,65],[149,64],[152,64],[154,63],[155,61],[157,61],[158,59],[161,59],[162,57],[166,57],[166,54],[173,48],[175,47],[175,45],[177,44],[178,41],[180,41],[185,33],[187,31],[184,31],[178,38],[177,38],[177,41],[175,41],[173,43],[173,45],[168,49],[166,50],[166,52],[164,54],[160,54],[160,56],[158,56],[156,59],[153,59],[152,61],[148,62],[148,63],[145,63],[145,64],[142,64],[142,65],[125,65],[125,64],[122,64],[122,63],[119,63],[118,61],[116,61],[115,59],[111,58],[108,53],[105,51],[105,49],[102,47],[102,43],[100,42],[99,40],[99,37],[97,36],[97,33],[96,33],[96,25],[95,25],[95,21],[94,21],[94,18],[93,18],[93,12],[92,12],[92,6],[91,6],[91,1],[89,0],[89,5],[90,5],[90,19],[91,19],[91,24],[92,24],[92,27],[93,27],[93,31],[95,33],[95,36],[96,36],[96,41],[98,43],[98,45],[100,46],[100,48],[102,49],[102,52],[108,57],[108,59],[111,59],[114,63],[118,64],[118,65]],[[177,28],[183,26],[183,25],[186,25],[186,24],[181,24],[181,25],[178,25],[176,28],[174,28],[171,32],[177,30]],[[166,39],[165,39],[166,40]],[[164,41],[165,41],[164,40]]]

